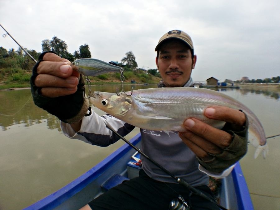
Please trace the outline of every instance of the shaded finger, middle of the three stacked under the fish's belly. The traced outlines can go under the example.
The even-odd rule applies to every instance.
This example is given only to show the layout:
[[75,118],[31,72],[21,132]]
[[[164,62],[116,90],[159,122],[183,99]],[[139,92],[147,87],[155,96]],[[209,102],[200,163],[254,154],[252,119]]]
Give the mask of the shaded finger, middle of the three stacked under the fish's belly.
[[193,132],[190,132],[190,131],[181,132],[181,135],[208,153],[211,153],[211,154],[222,153],[222,149],[220,147],[218,147],[214,143],[209,142],[208,140],[196,135]]

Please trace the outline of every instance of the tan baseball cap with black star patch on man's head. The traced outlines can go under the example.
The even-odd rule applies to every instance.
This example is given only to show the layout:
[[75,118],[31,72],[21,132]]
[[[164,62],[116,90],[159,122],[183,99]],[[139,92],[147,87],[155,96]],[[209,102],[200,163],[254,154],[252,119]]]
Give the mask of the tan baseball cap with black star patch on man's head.
[[155,51],[158,50],[158,47],[161,45],[161,43],[167,39],[179,39],[184,41],[184,43],[188,44],[190,49],[194,51],[194,44],[190,36],[181,30],[170,30],[166,34],[164,34],[160,40],[158,41],[158,44],[156,45]]

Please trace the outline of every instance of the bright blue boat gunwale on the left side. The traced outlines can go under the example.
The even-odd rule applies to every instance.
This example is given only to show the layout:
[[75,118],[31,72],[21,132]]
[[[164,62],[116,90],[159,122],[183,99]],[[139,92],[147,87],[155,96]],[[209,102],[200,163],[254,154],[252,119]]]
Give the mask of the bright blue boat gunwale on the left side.
[[[133,145],[136,145],[138,142],[140,142],[140,140],[141,134],[138,133],[129,142],[131,142]],[[128,144],[124,144],[112,154],[107,156],[103,161],[100,161],[96,166],[92,167],[90,170],[79,176],[77,179],[73,180],[61,189],[58,189],[56,192],[46,196],[45,198],[42,198],[36,203],[24,208],[23,210],[56,208],[67,199],[80,192],[84,187],[99,177],[104,171],[114,165],[115,162],[121,159],[121,157],[131,149],[132,147],[130,147]]]

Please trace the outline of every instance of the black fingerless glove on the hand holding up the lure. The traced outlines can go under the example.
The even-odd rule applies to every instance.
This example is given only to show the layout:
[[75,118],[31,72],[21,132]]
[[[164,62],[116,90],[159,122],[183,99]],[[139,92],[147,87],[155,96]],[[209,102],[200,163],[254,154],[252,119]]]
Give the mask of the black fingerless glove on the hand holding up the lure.
[[[54,53],[53,51],[49,51]],[[75,123],[82,119],[82,117],[87,113],[89,109],[88,100],[83,97],[83,92],[85,91],[85,83],[82,79],[79,81],[78,89],[75,93],[67,96],[59,96],[56,98],[44,97],[41,94],[40,88],[35,86],[35,78],[37,77],[37,67],[39,63],[43,61],[44,54],[49,53],[44,52],[39,56],[39,62],[37,62],[32,69],[32,76],[30,77],[31,93],[35,105],[48,111],[58,117],[64,123]]]

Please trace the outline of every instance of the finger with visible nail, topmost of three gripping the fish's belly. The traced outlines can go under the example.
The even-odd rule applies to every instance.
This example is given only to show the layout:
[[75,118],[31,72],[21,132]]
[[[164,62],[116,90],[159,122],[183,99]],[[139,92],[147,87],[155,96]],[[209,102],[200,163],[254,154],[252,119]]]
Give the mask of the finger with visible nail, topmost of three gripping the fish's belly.
[[184,121],[184,127],[196,135],[207,139],[218,147],[228,147],[231,143],[231,134],[214,128],[196,118],[188,118]]

